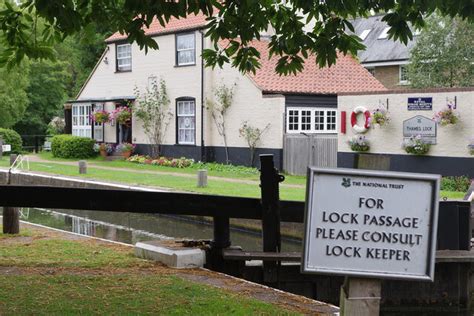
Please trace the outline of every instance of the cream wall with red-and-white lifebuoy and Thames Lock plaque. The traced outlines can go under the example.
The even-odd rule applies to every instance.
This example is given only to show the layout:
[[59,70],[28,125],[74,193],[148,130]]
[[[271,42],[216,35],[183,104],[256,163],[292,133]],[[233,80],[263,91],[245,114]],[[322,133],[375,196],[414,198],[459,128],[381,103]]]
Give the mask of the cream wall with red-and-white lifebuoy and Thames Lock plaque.
[[[408,111],[409,97],[432,97],[432,111]],[[447,157],[472,157],[467,150],[469,139],[474,137],[474,89],[472,91],[452,92],[416,92],[407,91],[373,95],[343,95],[338,97],[338,110],[347,113],[347,132],[341,133],[338,126],[338,151],[352,152],[348,140],[356,135],[350,124],[350,115],[356,106],[364,106],[368,110],[377,108],[379,102],[388,99],[391,122],[387,126],[376,126],[365,135],[370,141],[370,153],[407,154],[402,148],[403,121],[416,115],[432,118],[435,112],[445,109],[447,99],[457,98],[456,111],[460,121],[455,125],[437,126],[436,145],[432,145],[428,155]],[[474,158],[473,158],[474,159]],[[473,165],[474,167],[474,165]]]

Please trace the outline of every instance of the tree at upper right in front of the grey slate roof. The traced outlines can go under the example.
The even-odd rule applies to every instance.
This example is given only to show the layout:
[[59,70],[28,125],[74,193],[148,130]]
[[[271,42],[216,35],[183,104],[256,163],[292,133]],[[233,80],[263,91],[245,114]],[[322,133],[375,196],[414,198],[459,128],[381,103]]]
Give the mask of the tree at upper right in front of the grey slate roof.
[[433,15],[411,51],[414,88],[474,85],[474,24]]

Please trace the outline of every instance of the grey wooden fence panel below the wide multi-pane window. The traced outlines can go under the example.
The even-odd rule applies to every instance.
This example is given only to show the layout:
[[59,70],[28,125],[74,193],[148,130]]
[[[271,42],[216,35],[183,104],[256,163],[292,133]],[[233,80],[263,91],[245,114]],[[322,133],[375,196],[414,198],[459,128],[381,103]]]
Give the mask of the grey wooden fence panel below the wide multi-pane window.
[[283,169],[305,175],[308,166],[337,167],[337,135],[286,134],[283,144]]

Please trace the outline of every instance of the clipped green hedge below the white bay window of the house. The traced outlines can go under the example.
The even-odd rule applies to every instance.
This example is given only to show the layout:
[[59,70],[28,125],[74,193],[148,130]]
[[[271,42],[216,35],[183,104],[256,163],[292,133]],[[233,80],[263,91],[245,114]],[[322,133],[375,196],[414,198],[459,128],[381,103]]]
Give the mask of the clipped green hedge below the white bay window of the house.
[[51,152],[58,158],[89,158],[97,155],[95,140],[88,137],[56,135],[51,140]]

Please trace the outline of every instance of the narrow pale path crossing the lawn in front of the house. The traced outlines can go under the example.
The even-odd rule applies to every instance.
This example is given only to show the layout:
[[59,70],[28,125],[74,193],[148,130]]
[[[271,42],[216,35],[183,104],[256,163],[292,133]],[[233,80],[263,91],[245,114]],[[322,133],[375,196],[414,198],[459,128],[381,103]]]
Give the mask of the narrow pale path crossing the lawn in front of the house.
[[[30,162],[37,162],[37,163],[54,163],[59,165],[66,165],[66,166],[77,166],[77,162],[74,161],[52,161],[42,159],[36,155],[28,155]],[[108,167],[103,165],[98,165],[93,162],[88,162],[88,166],[94,169],[100,170],[110,170],[110,171],[126,171],[126,172],[133,172],[137,174],[154,174],[154,175],[170,175],[182,178],[192,178],[196,179],[196,175],[189,174],[189,173],[181,173],[181,172],[171,172],[171,171],[153,171],[153,170],[138,170],[134,168],[122,168],[122,167]],[[233,183],[241,183],[241,184],[252,184],[252,185],[259,185],[259,181],[255,180],[246,180],[246,179],[233,179],[233,178],[225,178],[225,177],[216,177],[216,176],[208,176],[209,180],[216,180],[216,181],[225,181],[225,182],[233,182]],[[302,184],[286,184],[280,183],[280,187],[287,187],[287,188],[299,188],[304,189],[305,185]]]

